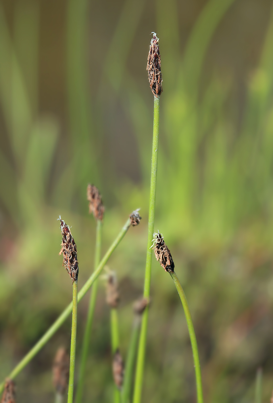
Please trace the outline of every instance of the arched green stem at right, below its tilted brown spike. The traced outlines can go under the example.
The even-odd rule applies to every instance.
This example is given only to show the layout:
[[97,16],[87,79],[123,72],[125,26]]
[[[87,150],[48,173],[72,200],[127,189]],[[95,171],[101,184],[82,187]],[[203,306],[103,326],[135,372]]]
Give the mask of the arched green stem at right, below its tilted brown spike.
[[186,295],[184,293],[184,290],[180,284],[179,278],[177,277],[175,272],[170,273],[170,275],[172,277],[172,280],[174,281],[177,292],[179,293],[179,297],[180,297],[182,305],[183,305],[186,322],[187,322],[187,326],[188,326],[188,330],[189,330],[191,348],[193,351],[193,363],[194,363],[194,368],[195,368],[197,403],[203,403],[201,368],[200,368],[197,341],[196,341],[195,331],[194,331],[194,327],[193,327],[193,319],[191,317],[191,312],[189,310],[188,301],[187,301]]

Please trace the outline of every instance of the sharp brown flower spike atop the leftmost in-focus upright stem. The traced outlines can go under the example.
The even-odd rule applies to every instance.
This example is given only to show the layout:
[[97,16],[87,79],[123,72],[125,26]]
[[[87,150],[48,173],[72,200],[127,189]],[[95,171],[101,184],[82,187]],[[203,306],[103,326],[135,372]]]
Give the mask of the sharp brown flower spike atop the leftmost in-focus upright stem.
[[79,264],[77,260],[77,247],[76,243],[70,232],[70,228],[62,220],[61,216],[59,218],[61,221],[61,231],[63,240],[61,243],[62,249],[59,255],[63,254],[63,266],[65,266],[70,278],[72,279],[72,284],[74,281],[78,281]]

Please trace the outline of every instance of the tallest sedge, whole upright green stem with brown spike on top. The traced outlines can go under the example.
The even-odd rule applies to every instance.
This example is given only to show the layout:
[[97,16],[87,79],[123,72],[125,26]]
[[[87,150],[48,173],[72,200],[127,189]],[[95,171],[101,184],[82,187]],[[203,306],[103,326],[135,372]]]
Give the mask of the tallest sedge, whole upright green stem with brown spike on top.
[[[146,268],[144,279],[143,297],[149,299],[151,285],[151,264],[152,250],[150,249],[153,233],[154,233],[154,214],[156,204],[156,176],[157,176],[157,159],[158,159],[158,133],[159,133],[159,96],[162,92],[162,78],[160,71],[160,54],[158,49],[158,38],[154,33],[151,41],[150,51],[147,64],[148,77],[150,88],[154,94],[154,127],[153,127],[153,143],[152,143],[152,170],[151,170],[151,185],[150,185],[150,202],[149,202],[149,217],[148,217],[148,239],[147,239],[147,254]],[[142,326],[140,331],[140,340],[138,345],[137,366],[135,372],[135,388],[133,394],[133,403],[140,403],[143,374],[144,374],[144,359],[146,351],[148,326],[148,307],[145,309],[142,317]]]

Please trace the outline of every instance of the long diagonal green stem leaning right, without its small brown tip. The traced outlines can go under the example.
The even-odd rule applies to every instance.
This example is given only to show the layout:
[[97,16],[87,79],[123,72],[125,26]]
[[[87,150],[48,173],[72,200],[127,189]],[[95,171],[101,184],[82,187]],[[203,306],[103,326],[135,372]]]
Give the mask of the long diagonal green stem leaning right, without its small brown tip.
[[[105,264],[107,263],[107,260],[110,258],[111,254],[113,251],[116,249],[117,245],[119,245],[120,241],[123,239],[124,235],[127,233],[129,227],[131,226],[130,224],[130,219],[126,221],[125,225],[121,229],[119,235],[115,239],[115,241],[112,243],[112,245],[109,247],[108,251],[105,253],[103,256],[103,259],[101,260],[99,266],[97,269],[94,271],[94,273],[88,278],[82,289],[78,293],[78,302],[84,297],[84,295],[87,293],[87,291],[90,289],[96,278],[99,276],[101,271],[103,270]],[[66,309],[62,312],[62,314],[55,320],[55,322],[50,326],[50,328],[45,332],[43,337],[35,344],[35,346],[25,355],[25,357],[19,362],[19,364],[16,365],[14,370],[10,372],[8,375],[8,378],[14,379],[22,370],[25,368],[25,366],[35,357],[35,355],[41,350],[41,348],[49,341],[49,339],[55,334],[55,332],[62,326],[62,324],[65,322],[65,320],[68,318],[68,316],[72,312],[72,302],[66,307]],[[0,384],[0,393],[2,393],[4,390],[4,382]]]

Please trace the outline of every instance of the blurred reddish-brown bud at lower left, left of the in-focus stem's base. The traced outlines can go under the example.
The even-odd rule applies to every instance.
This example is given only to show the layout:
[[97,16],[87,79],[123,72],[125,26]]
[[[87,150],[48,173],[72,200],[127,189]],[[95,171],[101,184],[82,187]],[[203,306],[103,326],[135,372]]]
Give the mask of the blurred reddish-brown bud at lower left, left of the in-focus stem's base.
[[53,385],[56,392],[60,393],[60,395],[64,395],[68,386],[69,378],[69,355],[64,347],[57,349],[53,361],[52,372]]

